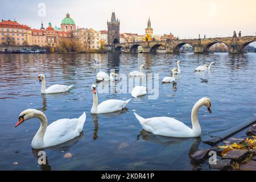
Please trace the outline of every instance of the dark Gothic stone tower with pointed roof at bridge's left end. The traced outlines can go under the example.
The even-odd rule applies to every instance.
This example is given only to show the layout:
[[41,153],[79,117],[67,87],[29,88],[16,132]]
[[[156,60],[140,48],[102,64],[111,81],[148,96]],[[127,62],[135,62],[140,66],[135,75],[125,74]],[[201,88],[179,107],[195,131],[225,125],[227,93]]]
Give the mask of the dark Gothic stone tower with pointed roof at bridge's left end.
[[114,44],[118,44],[120,42],[120,20],[115,19],[115,13],[112,12],[110,22],[107,21],[108,24],[108,45],[114,46]]

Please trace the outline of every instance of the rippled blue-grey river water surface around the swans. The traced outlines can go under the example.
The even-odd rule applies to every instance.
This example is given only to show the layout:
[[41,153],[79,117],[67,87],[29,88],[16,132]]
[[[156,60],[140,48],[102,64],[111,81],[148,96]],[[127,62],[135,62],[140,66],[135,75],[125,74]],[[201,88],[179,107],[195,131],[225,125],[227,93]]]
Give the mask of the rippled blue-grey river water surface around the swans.
[[[100,61],[96,69],[93,59]],[[181,60],[176,85],[160,82]],[[212,71],[194,73],[199,65],[215,61]],[[117,113],[91,115],[91,85],[99,70],[110,73],[136,71],[145,63],[147,73],[159,74],[159,97],[132,98],[127,109]],[[200,140],[221,135],[256,115],[256,54],[79,54],[0,55],[0,169],[10,170],[100,170],[100,169],[194,169],[189,155],[208,147]],[[39,73],[46,86],[74,84],[67,93],[40,94]],[[208,79],[201,82],[200,78]],[[115,81],[118,84],[120,81]],[[154,87],[153,87],[154,88]],[[201,97],[212,101],[212,114],[199,111],[201,138],[168,138],[147,133],[134,117],[175,117],[191,127],[191,109]],[[116,98],[128,100],[130,93],[101,93],[99,102]],[[19,113],[33,108],[43,111],[48,124],[60,118],[77,118],[86,111],[81,135],[61,146],[44,149],[47,165],[39,166],[38,151],[31,140],[39,128],[38,119],[14,127]],[[70,152],[72,158],[63,156]],[[18,162],[18,164],[14,164]]]

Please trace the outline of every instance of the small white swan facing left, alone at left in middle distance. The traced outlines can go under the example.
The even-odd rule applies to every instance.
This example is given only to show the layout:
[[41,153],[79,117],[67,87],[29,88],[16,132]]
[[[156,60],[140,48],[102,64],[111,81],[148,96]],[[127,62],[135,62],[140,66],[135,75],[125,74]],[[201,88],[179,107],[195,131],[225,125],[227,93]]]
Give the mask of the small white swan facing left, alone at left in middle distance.
[[42,88],[41,93],[62,93],[67,92],[69,89],[72,88],[73,85],[66,86],[66,85],[52,85],[46,89],[46,77],[43,74],[38,75],[38,80],[42,81]]

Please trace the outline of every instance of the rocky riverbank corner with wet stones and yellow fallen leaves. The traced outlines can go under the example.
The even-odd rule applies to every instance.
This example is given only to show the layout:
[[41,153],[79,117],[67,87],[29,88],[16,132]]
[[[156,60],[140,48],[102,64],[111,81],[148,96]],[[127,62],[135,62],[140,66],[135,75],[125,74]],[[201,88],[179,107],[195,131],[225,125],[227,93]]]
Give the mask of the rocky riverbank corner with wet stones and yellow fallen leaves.
[[216,147],[194,152],[191,160],[195,170],[256,171],[256,125],[245,134],[245,138],[232,137]]

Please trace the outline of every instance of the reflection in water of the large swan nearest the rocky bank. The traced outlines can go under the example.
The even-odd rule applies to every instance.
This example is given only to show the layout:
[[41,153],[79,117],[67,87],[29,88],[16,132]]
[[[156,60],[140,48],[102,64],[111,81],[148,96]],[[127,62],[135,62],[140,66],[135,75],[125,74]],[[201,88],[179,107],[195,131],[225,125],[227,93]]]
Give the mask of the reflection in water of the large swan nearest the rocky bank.
[[[137,135],[137,141],[140,139],[147,140],[148,142],[160,144],[164,146],[164,148],[167,148],[166,150],[171,150],[172,152],[170,153],[170,155],[172,156],[170,160],[172,161],[170,161],[170,163],[172,164],[182,163],[182,161],[180,161],[179,159],[184,159],[184,156],[182,155],[188,155],[188,158],[190,159],[189,163],[191,164],[191,169],[197,170],[199,168],[200,164],[195,162],[195,160],[191,158],[191,155],[199,150],[201,137],[195,137],[195,138],[164,137],[161,135],[152,134],[151,132],[148,132],[142,129]],[[190,148],[188,148],[189,146]],[[186,148],[188,148],[188,150],[186,150]]]

